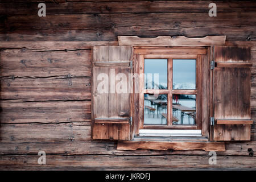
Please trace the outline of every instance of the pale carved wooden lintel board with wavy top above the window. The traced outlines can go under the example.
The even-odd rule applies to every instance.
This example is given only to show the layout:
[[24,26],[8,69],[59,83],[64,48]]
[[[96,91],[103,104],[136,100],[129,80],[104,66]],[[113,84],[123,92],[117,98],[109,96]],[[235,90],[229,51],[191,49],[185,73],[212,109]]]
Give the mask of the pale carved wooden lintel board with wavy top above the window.
[[187,38],[185,36],[158,36],[139,38],[138,36],[117,36],[119,46],[224,46],[226,36],[205,36]]

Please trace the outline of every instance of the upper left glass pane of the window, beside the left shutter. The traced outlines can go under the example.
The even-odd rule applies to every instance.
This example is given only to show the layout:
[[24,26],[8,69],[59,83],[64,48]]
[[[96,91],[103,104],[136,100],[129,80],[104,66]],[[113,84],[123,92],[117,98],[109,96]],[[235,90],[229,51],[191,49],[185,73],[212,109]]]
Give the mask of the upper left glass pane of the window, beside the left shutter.
[[145,59],[144,74],[145,89],[167,89],[167,59]]

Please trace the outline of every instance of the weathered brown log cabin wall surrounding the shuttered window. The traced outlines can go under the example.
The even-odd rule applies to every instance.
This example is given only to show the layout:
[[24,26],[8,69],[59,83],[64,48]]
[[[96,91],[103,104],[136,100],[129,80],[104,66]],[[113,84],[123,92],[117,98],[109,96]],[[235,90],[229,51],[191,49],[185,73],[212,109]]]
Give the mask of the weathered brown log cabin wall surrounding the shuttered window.
[[[255,169],[256,2],[0,1],[0,169]],[[91,46],[117,45],[118,35],[226,35],[251,46],[250,142],[226,142],[209,165],[208,152],[117,150],[91,140]],[[46,152],[46,165],[38,152]]]

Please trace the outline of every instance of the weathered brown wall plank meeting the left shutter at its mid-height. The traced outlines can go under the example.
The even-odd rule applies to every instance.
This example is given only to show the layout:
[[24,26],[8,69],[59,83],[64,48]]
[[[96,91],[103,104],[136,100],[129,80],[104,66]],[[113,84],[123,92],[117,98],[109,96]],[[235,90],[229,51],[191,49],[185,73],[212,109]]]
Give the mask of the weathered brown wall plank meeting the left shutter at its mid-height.
[[65,101],[90,100],[90,77],[1,78],[2,100]]

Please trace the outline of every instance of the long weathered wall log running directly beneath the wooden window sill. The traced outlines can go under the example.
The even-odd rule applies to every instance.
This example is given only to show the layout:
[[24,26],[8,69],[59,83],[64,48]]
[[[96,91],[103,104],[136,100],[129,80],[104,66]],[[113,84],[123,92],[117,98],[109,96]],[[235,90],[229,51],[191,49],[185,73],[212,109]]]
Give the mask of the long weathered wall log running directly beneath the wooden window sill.
[[[255,141],[247,142],[225,142],[225,152],[217,152],[218,156],[251,156],[255,157]],[[117,142],[110,140],[80,140],[69,141],[11,141],[0,142],[0,155],[18,155],[18,154],[38,154],[43,150],[46,154],[64,154],[64,155],[208,155],[209,152],[203,150],[147,150],[138,149],[134,151],[117,150]],[[250,154],[251,153],[251,154]]]

